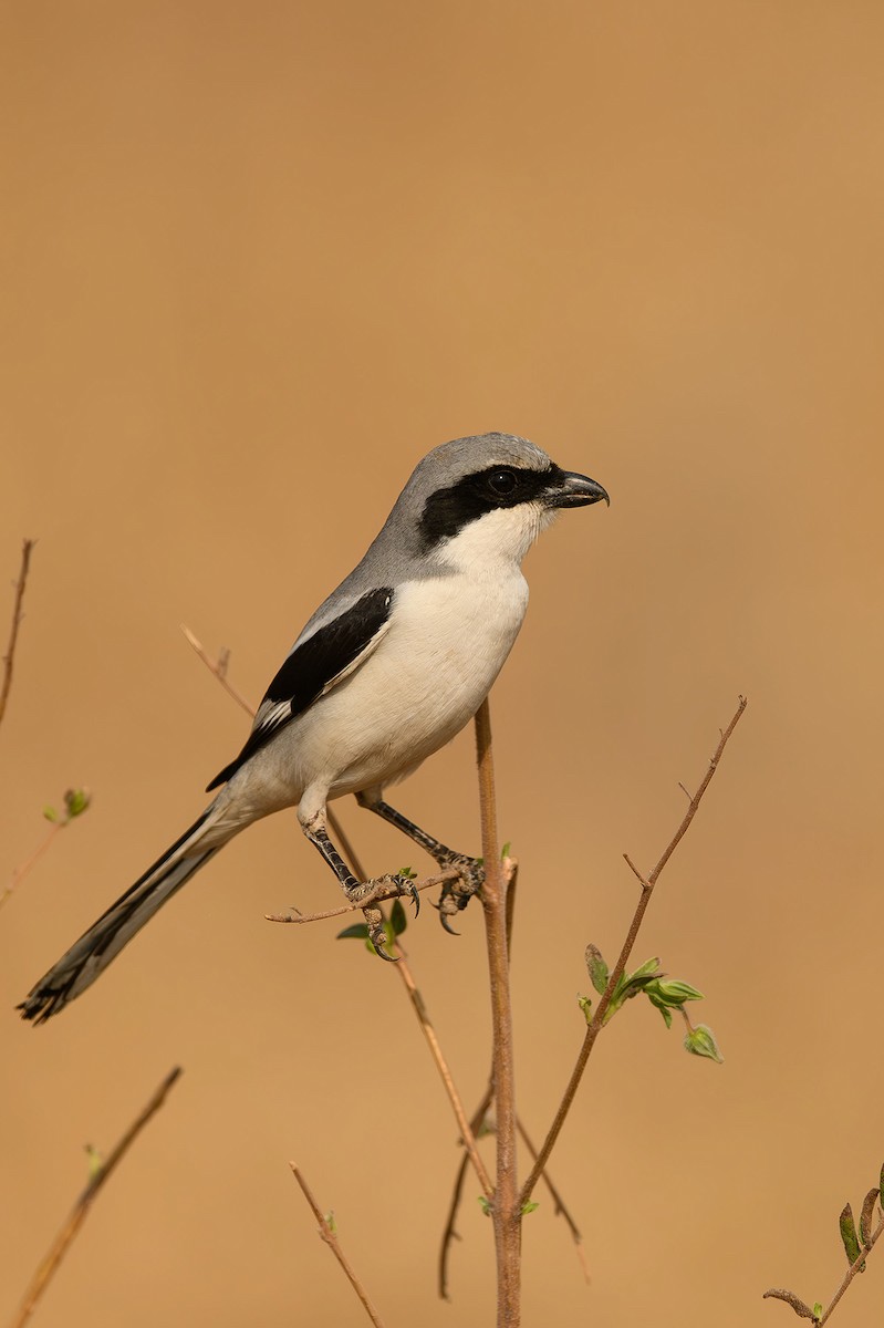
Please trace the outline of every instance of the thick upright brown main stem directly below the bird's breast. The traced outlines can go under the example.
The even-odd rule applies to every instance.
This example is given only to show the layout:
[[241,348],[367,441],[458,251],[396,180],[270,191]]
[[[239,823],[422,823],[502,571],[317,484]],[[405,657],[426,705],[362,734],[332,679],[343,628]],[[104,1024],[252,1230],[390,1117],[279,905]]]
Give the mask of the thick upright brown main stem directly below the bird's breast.
[[498,1325],[499,1328],[518,1328],[520,1321],[522,1211],[516,1175],[515,1065],[507,947],[507,888],[511,869],[504,869],[498,850],[491,712],[487,699],[475,716],[475,745],[479,766],[482,857],[484,859],[482,904],[488,952],[494,1038],[496,1187],[491,1216],[498,1263]]

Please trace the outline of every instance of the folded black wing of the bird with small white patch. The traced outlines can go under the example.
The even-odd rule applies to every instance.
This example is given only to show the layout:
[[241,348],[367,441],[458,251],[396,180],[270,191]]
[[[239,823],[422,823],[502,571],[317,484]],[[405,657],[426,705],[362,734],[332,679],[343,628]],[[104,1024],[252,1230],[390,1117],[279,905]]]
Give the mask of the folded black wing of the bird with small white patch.
[[216,774],[206,791],[227,784],[281,728],[353,672],[378,644],[390,619],[393,590],[369,590],[340,618],[325,623],[303,645],[296,645],[267,688],[255,728],[235,761]]

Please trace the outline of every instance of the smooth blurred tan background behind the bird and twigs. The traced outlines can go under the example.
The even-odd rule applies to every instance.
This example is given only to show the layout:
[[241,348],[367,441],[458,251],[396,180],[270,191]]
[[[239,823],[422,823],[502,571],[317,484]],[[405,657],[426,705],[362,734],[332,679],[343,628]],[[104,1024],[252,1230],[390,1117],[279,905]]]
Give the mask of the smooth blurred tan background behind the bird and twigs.
[[[520,1110],[573,1062],[583,950],[613,955],[739,692],[749,710],[637,959],[706,993],[726,1064],[630,1005],[540,1194],[527,1324],[787,1321],[840,1280],[884,1157],[879,880],[884,11],[766,4],[9,4],[0,42],[0,631],[37,537],[0,732],[5,876],[68,785],[94,806],[0,914],[0,1319],[173,1065],[36,1321],[364,1321],[288,1171],[390,1325],[492,1321],[457,1129],[389,965],[276,817],[46,1028],[13,1005],[203,806],[258,699],[414,462],[524,433],[612,495],[531,554],[494,693],[522,862]],[[465,733],[397,797],[478,850]],[[415,854],[354,806],[372,870]],[[409,954],[469,1104],[482,927]],[[880,1317],[884,1260],[842,1328]]]

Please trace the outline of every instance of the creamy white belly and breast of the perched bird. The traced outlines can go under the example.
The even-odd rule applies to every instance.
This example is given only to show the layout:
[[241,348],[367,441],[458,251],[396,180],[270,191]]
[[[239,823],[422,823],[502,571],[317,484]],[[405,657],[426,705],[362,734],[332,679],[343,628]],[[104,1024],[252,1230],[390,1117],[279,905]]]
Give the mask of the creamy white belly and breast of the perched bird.
[[398,591],[374,653],[280,734],[300,786],[338,797],[390,784],[449,742],[500,672],[527,599],[518,571],[503,582],[447,576]]

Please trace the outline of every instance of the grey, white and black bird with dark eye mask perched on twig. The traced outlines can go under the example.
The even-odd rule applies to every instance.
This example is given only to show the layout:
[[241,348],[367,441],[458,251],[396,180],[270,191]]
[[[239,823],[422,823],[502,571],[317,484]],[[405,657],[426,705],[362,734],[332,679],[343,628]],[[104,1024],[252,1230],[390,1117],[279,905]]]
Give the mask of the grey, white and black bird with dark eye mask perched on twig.
[[214,799],[35,984],[21,1017],[57,1015],[240,830],[289,807],[346,898],[364,907],[381,957],[393,959],[372,898],[386,886],[417,904],[417,892],[407,876],[353,876],[328,834],[331,799],[356,794],[469,878],[469,898],[478,861],[392,807],[385,786],[445,746],[484,701],[522,627],[522,560],[538,535],[561,510],[603,499],[600,483],[516,434],[474,434],[429,452],[365,556],[295,641],[239,756],[208,785],[219,790]]

